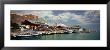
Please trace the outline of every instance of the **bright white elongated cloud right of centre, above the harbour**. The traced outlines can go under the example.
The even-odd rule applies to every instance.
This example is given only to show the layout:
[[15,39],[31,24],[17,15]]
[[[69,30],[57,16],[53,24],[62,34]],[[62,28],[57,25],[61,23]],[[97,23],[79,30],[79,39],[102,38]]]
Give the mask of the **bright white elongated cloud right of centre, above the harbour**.
[[63,21],[67,21],[67,20],[76,20],[78,22],[80,22],[81,24],[86,24],[86,20],[87,18],[82,16],[82,15],[77,15],[75,13],[70,13],[70,12],[64,12],[64,13],[61,13],[59,14],[59,16],[62,18],[62,19],[65,19]]

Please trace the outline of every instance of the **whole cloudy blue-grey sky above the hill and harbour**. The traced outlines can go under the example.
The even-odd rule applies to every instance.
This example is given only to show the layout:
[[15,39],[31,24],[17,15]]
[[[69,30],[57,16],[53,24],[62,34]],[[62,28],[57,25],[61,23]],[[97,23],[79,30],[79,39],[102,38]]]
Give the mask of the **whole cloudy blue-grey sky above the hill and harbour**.
[[62,23],[71,25],[94,25],[100,26],[99,10],[11,10],[18,15],[33,14],[44,18],[48,24]]

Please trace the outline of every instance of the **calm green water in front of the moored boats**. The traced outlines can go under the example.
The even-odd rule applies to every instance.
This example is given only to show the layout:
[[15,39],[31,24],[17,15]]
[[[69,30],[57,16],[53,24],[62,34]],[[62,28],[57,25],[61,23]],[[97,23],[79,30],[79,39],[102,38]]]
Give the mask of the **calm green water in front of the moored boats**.
[[100,33],[70,33],[70,34],[52,34],[38,35],[31,37],[16,37],[12,40],[100,40]]

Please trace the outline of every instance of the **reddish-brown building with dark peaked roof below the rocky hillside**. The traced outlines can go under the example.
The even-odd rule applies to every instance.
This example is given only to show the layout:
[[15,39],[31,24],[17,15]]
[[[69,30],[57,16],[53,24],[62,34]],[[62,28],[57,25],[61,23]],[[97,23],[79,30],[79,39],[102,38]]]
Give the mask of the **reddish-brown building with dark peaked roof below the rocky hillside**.
[[45,23],[31,23],[28,20],[25,20],[21,22],[21,25],[24,25],[25,27],[28,27],[27,29],[37,30],[37,31],[47,31],[49,30],[49,25]]

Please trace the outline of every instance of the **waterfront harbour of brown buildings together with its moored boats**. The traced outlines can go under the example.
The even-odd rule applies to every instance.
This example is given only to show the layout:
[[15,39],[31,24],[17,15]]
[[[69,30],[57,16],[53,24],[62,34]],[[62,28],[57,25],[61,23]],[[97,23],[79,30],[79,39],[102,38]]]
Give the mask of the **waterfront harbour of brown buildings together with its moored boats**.
[[[13,15],[12,15],[13,16]],[[32,19],[31,19],[32,20]],[[49,26],[47,23],[41,21],[35,21],[32,23],[30,20],[24,20],[21,22],[17,33],[11,33],[11,36],[38,36],[38,35],[51,35],[51,34],[69,34],[69,33],[89,33],[90,30],[81,28],[79,25],[68,27],[65,24],[56,23],[53,26]],[[13,24],[14,25],[14,24]],[[13,27],[12,27],[13,30]]]

